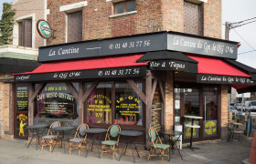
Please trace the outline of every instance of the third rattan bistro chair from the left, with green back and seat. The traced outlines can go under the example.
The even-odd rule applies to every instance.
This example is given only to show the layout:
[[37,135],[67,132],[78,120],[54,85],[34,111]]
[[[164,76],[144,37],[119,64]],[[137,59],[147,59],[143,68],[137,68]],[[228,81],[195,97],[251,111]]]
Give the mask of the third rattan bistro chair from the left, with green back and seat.
[[[119,143],[119,135],[118,132],[121,131],[121,128],[118,125],[112,125],[108,128],[107,134],[104,141],[101,141],[101,158],[103,152],[112,152],[112,159],[114,159],[114,151],[118,150],[115,147],[118,147]],[[112,140],[112,138],[117,138],[116,140]],[[109,146],[109,150],[105,150],[105,147]]]

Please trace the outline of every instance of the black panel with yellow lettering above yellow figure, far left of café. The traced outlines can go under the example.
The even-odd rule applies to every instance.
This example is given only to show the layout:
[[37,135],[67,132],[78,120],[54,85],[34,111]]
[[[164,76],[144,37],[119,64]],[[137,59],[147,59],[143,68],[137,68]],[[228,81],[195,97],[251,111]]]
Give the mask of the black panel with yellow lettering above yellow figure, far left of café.
[[16,87],[16,110],[27,111],[28,87]]

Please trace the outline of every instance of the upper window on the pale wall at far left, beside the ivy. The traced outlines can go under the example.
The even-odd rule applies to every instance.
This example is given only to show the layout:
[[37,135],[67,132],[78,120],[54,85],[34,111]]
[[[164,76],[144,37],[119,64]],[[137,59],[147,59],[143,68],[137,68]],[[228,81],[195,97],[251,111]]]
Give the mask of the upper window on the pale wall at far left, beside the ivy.
[[32,47],[32,19],[18,22],[18,46]]

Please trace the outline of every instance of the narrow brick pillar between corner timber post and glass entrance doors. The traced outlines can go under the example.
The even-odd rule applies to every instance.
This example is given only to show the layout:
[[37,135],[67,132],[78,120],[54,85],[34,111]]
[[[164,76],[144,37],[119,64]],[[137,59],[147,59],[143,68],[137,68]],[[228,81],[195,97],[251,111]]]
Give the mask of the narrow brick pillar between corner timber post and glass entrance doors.
[[174,80],[173,71],[166,72],[165,79],[165,129],[174,126]]

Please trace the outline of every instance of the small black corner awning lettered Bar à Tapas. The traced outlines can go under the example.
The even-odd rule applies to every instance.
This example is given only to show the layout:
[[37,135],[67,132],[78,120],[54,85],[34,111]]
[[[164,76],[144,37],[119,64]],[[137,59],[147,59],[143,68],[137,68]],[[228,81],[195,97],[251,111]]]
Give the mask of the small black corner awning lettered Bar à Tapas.
[[137,62],[147,62],[151,70],[176,70],[197,73],[197,61],[176,51],[147,52]]

